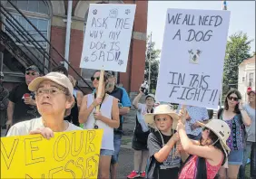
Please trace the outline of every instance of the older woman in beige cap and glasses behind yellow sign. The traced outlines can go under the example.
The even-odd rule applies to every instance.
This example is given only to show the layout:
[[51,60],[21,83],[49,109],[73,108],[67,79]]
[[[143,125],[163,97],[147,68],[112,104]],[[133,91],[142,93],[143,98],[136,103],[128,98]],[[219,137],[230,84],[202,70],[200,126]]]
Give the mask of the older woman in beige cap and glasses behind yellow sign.
[[65,111],[74,103],[73,86],[64,74],[50,72],[37,77],[28,89],[35,92],[35,102],[42,117],[15,124],[7,137],[41,134],[49,139],[54,137],[54,132],[82,129],[64,120]]

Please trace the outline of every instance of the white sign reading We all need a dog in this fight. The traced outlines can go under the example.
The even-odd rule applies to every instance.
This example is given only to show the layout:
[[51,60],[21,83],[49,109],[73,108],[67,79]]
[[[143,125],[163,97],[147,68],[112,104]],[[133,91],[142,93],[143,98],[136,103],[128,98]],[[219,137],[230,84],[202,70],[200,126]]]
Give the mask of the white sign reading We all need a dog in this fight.
[[230,12],[168,9],[156,98],[217,108]]

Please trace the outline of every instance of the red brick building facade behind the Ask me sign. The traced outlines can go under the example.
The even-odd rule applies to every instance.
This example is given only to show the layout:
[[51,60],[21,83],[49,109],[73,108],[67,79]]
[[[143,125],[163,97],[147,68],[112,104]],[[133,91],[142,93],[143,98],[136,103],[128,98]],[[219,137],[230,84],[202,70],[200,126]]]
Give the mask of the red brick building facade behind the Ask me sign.
[[[42,0],[23,0],[11,1],[25,16],[27,19],[34,24],[34,26],[44,35],[44,37],[50,42],[45,42],[46,40],[36,33],[30,24],[27,23],[25,18],[17,13],[17,10],[9,1],[1,1],[1,5],[5,9],[13,14],[13,17],[25,27],[25,31],[32,33],[34,39],[40,43],[41,48],[46,52],[49,52],[50,56],[58,64],[63,64],[65,52],[65,41],[66,41],[66,20],[67,20],[67,10],[68,1],[42,1]],[[89,0],[73,0],[72,5],[72,24],[71,24],[71,35],[69,43],[69,63],[72,68],[68,68],[71,75],[78,80],[79,85],[86,87],[83,80],[75,73],[78,72],[87,82],[91,82],[89,79],[93,71],[80,69],[80,60],[83,48],[84,40],[84,29],[86,27],[87,14],[90,4],[103,3],[103,1],[89,1]],[[128,57],[128,64],[126,72],[118,73],[118,82],[123,85],[125,89],[129,92],[135,92],[139,89],[140,84],[143,82],[144,78],[144,66],[145,66],[145,51],[146,51],[146,30],[147,30],[147,1],[104,1],[104,3],[109,4],[135,4],[136,13],[133,24],[133,35],[131,39],[130,52]],[[5,32],[7,35],[11,35],[8,28],[5,27],[5,21],[8,18],[6,16],[1,16],[1,31]],[[15,33],[19,33],[15,31]],[[18,37],[19,38],[19,37]],[[13,38],[15,39],[15,38]],[[21,42],[15,41],[25,53],[31,50],[34,51],[36,47],[30,46],[30,42],[27,43],[28,48],[24,48]],[[5,87],[8,89],[13,88],[16,83],[24,80],[24,72],[15,68],[15,61],[17,57],[15,53],[8,52],[9,49],[5,47],[5,42],[0,44],[0,51],[2,52],[3,61],[3,71],[5,74]],[[54,49],[53,49],[54,47]],[[51,64],[49,61],[44,61],[45,55],[41,52],[34,52],[38,59],[40,59],[46,67],[51,69]],[[60,54],[58,54],[60,53]],[[21,64],[26,64],[20,61]],[[38,64],[39,66],[41,64]],[[42,66],[43,68],[43,66]],[[73,70],[74,69],[74,70]],[[86,88],[85,88],[86,89]]]

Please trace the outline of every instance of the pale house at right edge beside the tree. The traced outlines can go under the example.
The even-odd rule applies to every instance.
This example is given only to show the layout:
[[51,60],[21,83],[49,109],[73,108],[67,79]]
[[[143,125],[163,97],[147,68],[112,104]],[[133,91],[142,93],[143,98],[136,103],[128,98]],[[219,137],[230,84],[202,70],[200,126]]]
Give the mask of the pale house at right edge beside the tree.
[[247,102],[247,89],[255,90],[255,55],[244,60],[239,65],[238,90],[241,92],[242,100]]

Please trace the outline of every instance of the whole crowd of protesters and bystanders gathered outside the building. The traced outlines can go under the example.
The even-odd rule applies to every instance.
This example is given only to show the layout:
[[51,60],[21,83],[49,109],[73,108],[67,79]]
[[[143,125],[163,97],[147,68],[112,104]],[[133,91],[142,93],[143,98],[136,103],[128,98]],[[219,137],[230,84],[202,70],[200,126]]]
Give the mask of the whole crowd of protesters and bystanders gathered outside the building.
[[[84,96],[64,66],[41,76],[32,65],[25,70],[25,83],[10,92],[1,73],[0,118],[6,137],[41,134],[49,139],[54,132],[102,128],[99,178],[116,179],[123,115],[132,104],[126,90],[116,86],[113,71],[104,72],[103,91],[97,94],[100,74],[94,72],[94,91]],[[133,99],[134,168],[127,178],[244,178],[248,157],[251,178],[256,178],[255,90],[247,94],[249,103],[243,104],[240,91],[231,89],[218,119],[212,119],[207,108],[156,107],[153,94],[140,103],[144,94],[139,89]]]

